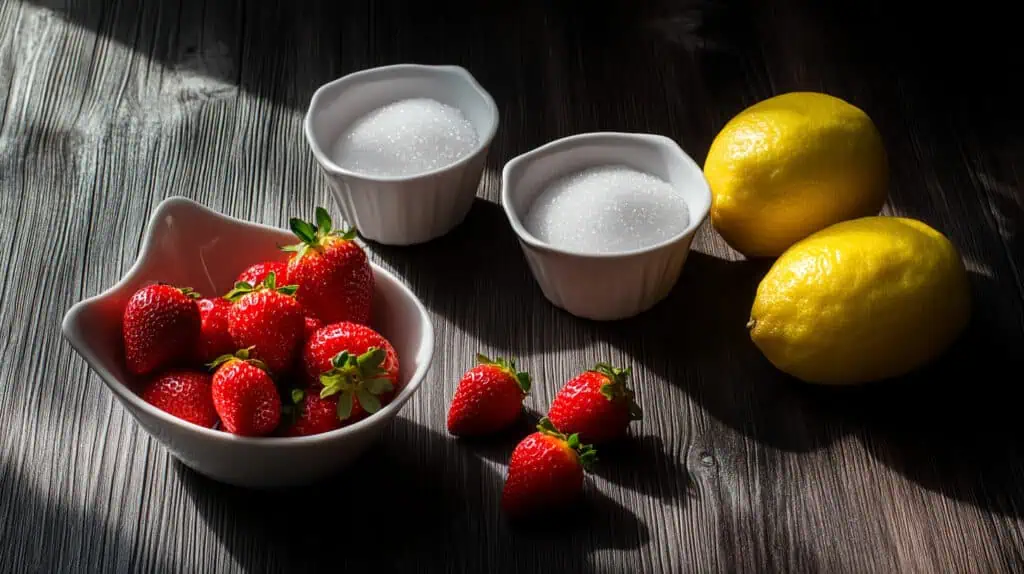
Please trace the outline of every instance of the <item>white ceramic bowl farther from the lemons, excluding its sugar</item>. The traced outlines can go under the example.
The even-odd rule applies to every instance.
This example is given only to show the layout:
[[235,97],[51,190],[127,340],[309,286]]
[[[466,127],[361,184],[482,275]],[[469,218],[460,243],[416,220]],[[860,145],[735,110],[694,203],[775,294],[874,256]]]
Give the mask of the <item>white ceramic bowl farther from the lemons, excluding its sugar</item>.
[[[334,142],[352,122],[387,103],[428,97],[462,111],[476,129],[476,149],[458,162],[419,175],[370,176],[338,166]],[[473,205],[490,142],[498,130],[495,100],[456,65],[396,64],[349,74],[313,94],[306,141],[345,220],[367,239],[408,246],[439,237]]]

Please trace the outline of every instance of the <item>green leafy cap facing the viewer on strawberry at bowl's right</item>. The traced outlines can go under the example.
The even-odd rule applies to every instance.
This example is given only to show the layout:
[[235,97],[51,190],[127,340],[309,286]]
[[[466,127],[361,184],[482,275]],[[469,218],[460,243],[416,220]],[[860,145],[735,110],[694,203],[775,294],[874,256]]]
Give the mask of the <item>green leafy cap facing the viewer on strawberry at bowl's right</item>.
[[338,395],[340,421],[351,415],[353,398],[370,414],[380,410],[378,396],[394,390],[391,380],[386,377],[387,369],[381,366],[385,359],[387,352],[378,347],[371,347],[358,356],[342,351],[332,357],[331,369],[319,376],[324,385],[321,397]]

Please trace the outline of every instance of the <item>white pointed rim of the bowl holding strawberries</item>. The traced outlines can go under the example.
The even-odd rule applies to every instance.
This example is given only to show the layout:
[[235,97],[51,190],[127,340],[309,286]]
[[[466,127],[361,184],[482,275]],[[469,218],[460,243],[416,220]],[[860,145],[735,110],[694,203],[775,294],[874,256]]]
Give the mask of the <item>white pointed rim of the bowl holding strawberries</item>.
[[[433,362],[434,353],[434,328],[430,320],[430,315],[426,310],[426,307],[420,301],[420,299],[398,279],[393,273],[380,267],[374,262],[370,262],[371,268],[374,271],[375,276],[384,276],[387,280],[392,281],[398,291],[409,298],[413,302],[417,311],[422,319],[423,329],[422,338],[420,339],[421,353],[426,353],[424,355],[424,360],[421,364],[413,371],[410,376],[409,383],[402,388],[394,399],[388,404],[384,405],[380,410],[375,412],[373,415],[367,416],[366,418],[342,427],[340,429],[335,429],[327,433],[321,433],[317,435],[308,435],[301,437],[248,437],[240,436],[224,431],[208,429],[195,423],[185,421],[183,418],[178,418],[169,412],[161,410],[156,406],[150,404],[148,402],[142,400],[142,397],[133,392],[125,383],[123,383],[119,378],[113,373],[101,372],[98,368],[94,366],[95,354],[92,352],[92,348],[89,345],[82,344],[77,338],[73,337],[72,329],[73,325],[76,323],[77,316],[81,314],[86,308],[99,303],[100,301],[113,297],[118,291],[123,290],[128,283],[136,280],[141,273],[141,268],[143,263],[152,256],[152,251],[154,249],[154,244],[156,242],[156,224],[167,214],[168,211],[172,209],[177,209],[180,207],[185,207],[187,209],[193,209],[201,212],[205,212],[206,215],[223,221],[224,223],[234,224],[239,227],[247,227],[255,231],[273,231],[281,232],[285,229],[280,227],[273,227],[270,225],[264,225],[262,223],[256,223],[253,221],[247,221],[244,219],[236,218],[229,215],[219,213],[212,210],[198,202],[189,200],[183,196],[171,196],[163,200],[150,216],[146,223],[144,238],[141,247],[139,248],[138,255],[135,258],[135,262],[132,264],[131,268],[119,279],[115,284],[103,290],[102,292],[93,295],[91,297],[82,299],[81,301],[75,303],[69,308],[65,313],[63,320],[61,321],[60,332],[65,340],[72,346],[72,348],[85,360],[89,369],[93,371],[94,374],[99,377],[100,380],[106,385],[111,391],[114,392],[115,396],[119,400],[128,403],[130,406],[145,411],[148,415],[163,421],[164,423],[176,426],[184,432],[191,433],[197,436],[197,438],[202,437],[207,440],[218,441],[222,443],[233,443],[239,445],[245,445],[247,447],[256,448],[281,448],[288,446],[308,446],[315,443],[323,442],[334,442],[337,440],[342,440],[349,435],[358,434],[365,430],[376,427],[378,425],[384,424],[390,421],[397,412],[404,406],[406,402],[417,391],[419,391],[423,380],[426,378],[427,372]],[[105,370],[105,369],[104,369]],[[129,411],[131,409],[128,409]],[[132,417],[137,418],[137,416],[132,413]],[[150,433],[152,434],[152,433]]]

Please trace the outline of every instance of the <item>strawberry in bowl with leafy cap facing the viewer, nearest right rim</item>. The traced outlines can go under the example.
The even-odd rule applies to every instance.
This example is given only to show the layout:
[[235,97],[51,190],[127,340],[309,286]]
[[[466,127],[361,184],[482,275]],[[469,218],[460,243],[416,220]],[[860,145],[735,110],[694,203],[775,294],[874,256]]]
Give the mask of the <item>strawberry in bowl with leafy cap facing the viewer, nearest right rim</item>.
[[[343,321],[321,327],[303,349],[306,377],[323,387],[321,397],[338,397],[338,418],[358,421],[394,396],[398,355],[373,328]],[[318,384],[317,384],[318,383]]]

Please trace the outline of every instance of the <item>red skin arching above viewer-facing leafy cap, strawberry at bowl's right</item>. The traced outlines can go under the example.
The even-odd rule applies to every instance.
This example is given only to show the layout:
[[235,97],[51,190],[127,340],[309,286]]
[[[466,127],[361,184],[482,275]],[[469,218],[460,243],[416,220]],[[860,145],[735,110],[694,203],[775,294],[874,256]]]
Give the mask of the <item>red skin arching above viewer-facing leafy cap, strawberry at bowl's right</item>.
[[351,321],[326,324],[306,341],[302,351],[306,378],[315,385],[321,374],[331,370],[331,359],[336,355],[342,351],[361,355],[371,347],[384,349],[387,353],[383,367],[388,372],[388,378],[397,385],[398,355],[391,342],[372,327]]

